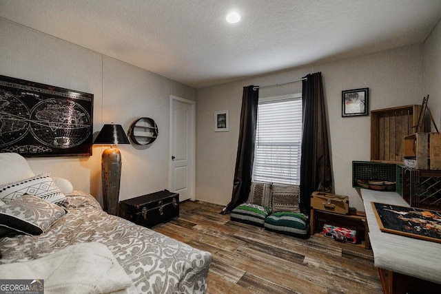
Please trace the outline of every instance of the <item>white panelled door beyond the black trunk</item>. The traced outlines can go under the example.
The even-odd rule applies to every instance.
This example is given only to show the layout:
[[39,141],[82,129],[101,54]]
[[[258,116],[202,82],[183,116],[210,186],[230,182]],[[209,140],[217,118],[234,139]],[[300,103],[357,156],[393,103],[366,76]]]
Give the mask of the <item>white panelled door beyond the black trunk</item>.
[[194,101],[170,96],[170,190],[179,200],[194,195]]

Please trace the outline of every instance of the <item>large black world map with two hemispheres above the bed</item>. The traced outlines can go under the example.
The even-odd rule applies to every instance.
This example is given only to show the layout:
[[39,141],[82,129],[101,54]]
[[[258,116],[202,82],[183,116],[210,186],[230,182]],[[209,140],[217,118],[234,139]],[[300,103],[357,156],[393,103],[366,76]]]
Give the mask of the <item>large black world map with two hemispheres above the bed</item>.
[[0,75],[0,152],[92,155],[93,98]]

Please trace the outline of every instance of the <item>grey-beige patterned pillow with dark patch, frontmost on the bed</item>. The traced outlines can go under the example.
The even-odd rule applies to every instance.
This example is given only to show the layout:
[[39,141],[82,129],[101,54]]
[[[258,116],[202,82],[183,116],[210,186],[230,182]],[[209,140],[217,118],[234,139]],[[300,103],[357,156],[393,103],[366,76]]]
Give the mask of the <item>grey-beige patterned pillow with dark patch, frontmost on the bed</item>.
[[65,215],[65,210],[32,195],[23,195],[0,207],[0,226],[28,235],[40,235]]

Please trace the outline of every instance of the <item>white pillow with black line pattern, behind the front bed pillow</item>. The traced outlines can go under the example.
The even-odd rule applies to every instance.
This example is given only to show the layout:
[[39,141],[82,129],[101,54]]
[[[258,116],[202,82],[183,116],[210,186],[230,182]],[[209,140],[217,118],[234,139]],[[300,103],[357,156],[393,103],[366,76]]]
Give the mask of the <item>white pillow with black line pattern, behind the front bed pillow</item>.
[[6,203],[23,194],[34,195],[59,206],[68,205],[68,200],[54,184],[49,173],[0,186],[0,200]]

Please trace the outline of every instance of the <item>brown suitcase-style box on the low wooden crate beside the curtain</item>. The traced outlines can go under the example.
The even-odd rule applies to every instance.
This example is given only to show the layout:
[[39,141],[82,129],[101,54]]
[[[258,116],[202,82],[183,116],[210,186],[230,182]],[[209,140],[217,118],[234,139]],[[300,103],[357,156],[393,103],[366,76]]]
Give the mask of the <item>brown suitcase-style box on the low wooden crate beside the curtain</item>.
[[311,207],[322,211],[348,214],[349,197],[315,191],[311,195]]

